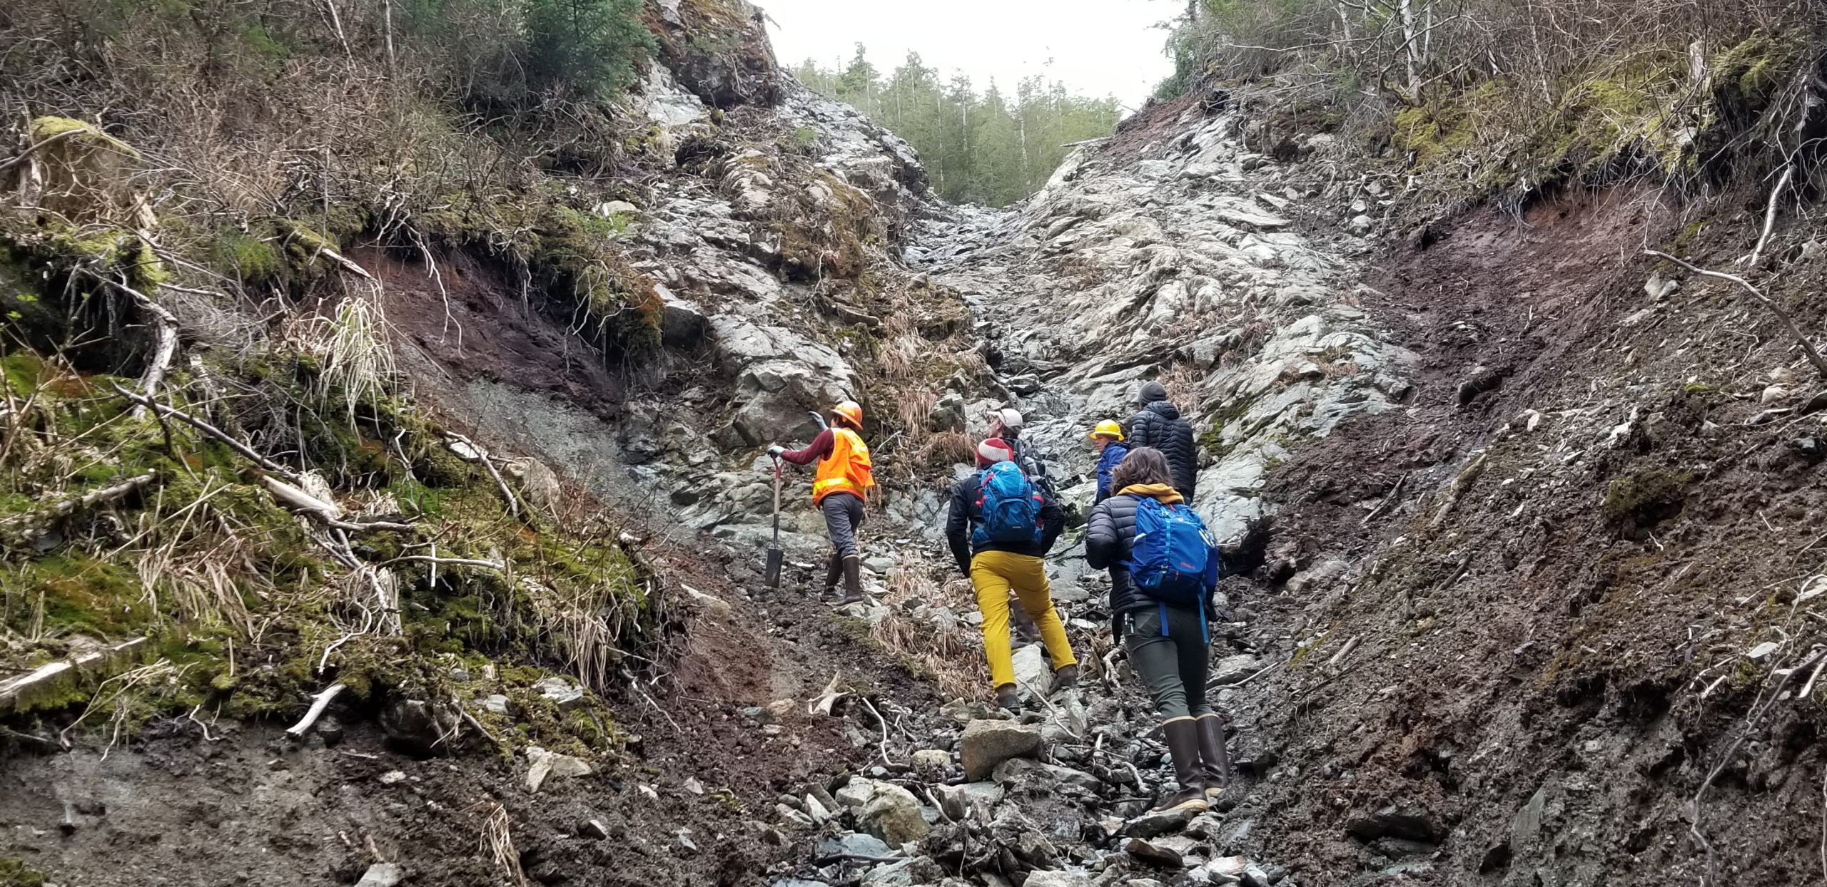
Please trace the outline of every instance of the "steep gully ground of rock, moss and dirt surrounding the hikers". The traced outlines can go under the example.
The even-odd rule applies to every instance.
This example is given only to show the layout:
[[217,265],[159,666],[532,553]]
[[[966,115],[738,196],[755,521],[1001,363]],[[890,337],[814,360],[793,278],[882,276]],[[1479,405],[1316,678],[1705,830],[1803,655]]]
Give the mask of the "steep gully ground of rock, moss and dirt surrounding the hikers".
[[[7,57],[42,115],[0,168],[0,883],[1809,876],[1818,380],[1730,285],[1639,256],[1725,266],[1748,215],[1569,188],[1398,245],[1403,175],[1259,146],[1219,93],[1010,212],[946,208],[753,9],[643,20],[623,102],[508,133],[358,89],[354,58],[398,64],[378,15],[371,46],[290,22],[322,64],[95,66],[238,97],[245,151],[121,111],[208,108],[185,77],[71,73],[64,31]],[[1805,334],[1822,252],[1779,234],[1747,272]],[[1082,511],[1085,429],[1149,378],[1235,568],[1241,783],[1189,823],[1125,821],[1167,767],[1076,540],[1051,571],[1085,686],[1043,703],[1023,648],[1023,725],[974,701],[974,604],[934,566],[985,409],[1029,414]],[[833,615],[806,566],[762,588],[760,453],[844,396],[884,487],[875,600]]]

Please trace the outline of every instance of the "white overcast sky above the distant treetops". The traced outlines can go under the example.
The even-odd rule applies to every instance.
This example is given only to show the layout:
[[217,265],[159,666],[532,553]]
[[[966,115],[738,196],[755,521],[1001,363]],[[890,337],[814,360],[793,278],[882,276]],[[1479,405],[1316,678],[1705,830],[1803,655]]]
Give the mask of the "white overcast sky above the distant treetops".
[[[1072,91],[1114,95],[1138,108],[1173,64],[1155,27],[1186,0],[755,0],[780,64],[848,62],[855,44],[886,77],[908,49],[941,77],[963,71],[976,88],[1005,89],[1049,75]],[[1051,60],[1051,64],[1049,64]]]

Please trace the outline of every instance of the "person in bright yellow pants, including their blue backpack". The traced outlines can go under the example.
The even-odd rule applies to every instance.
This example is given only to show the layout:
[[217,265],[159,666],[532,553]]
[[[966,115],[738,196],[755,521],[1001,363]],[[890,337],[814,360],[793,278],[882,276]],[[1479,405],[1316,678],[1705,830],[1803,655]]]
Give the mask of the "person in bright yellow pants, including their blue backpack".
[[983,611],[983,655],[990,663],[996,704],[1021,712],[1021,692],[1009,642],[1009,593],[1040,628],[1052,657],[1052,690],[1078,683],[1078,659],[1065,639],[1065,624],[1052,606],[1047,582],[1047,551],[1065,529],[1065,511],[1051,500],[1021,465],[1014,447],[988,438],[977,447],[977,473],[952,489],[945,535],[957,569],[970,577]]

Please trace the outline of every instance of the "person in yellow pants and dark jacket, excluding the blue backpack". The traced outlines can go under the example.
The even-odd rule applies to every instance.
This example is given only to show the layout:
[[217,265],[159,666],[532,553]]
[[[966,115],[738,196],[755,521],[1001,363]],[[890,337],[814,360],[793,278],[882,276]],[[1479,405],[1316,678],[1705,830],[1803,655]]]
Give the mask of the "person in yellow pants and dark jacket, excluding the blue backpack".
[[1009,642],[1010,591],[1040,628],[1041,642],[1047,644],[1047,653],[1052,657],[1054,690],[1078,683],[1078,659],[1072,657],[1072,644],[1065,639],[1065,624],[1052,606],[1052,586],[1047,582],[1043,560],[1065,529],[1065,511],[1060,509],[1060,504],[1036,487],[1041,496],[1041,526],[1040,537],[1032,542],[994,542],[976,538],[972,533],[983,522],[985,469],[1012,460],[1014,447],[1001,438],[988,438],[977,447],[977,471],[952,487],[952,509],[946,517],[945,537],[952,546],[957,569],[970,579],[970,586],[977,593],[977,608],[983,611],[983,655],[990,664],[996,704],[1019,712],[1021,694],[1016,688],[1016,668]]

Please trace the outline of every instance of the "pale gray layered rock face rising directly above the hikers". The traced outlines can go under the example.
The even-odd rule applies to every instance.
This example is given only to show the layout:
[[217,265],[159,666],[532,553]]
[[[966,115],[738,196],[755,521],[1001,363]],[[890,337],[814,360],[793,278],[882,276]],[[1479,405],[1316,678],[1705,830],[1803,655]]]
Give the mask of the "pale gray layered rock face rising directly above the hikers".
[[1089,473],[1085,431],[1127,420],[1140,381],[1184,380],[1182,414],[1217,447],[1193,506],[1226,542],[1273,511],[1259,491],[1286,442],[1396,407],[1416,360],[1345,297],[1356,237],[1288,230],[1279,164],[1239,144],[1241,124],[1193,119],[1125,164],[1074,153],[1027,203],[956,210],[908,250],[988,316],[1021,318],[985,334],[1007,378],[1034,378],[1045,409],[1023,438],[1056,475]]

